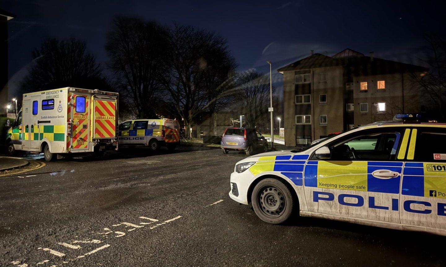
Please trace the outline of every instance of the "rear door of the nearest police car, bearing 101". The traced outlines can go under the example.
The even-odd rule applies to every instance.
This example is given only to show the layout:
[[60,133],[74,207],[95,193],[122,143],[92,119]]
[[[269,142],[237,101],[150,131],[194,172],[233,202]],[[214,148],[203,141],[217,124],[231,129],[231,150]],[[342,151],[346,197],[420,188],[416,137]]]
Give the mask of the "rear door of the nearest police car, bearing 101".
[[411,129],[400,214],[402,224],[446,230],[446,128]]

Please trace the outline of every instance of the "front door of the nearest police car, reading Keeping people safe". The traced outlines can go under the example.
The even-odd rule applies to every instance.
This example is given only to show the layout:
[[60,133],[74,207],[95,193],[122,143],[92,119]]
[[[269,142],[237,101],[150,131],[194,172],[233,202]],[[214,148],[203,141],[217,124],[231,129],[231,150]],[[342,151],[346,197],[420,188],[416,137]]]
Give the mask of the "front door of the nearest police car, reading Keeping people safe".
[[401,129],[355,132],[327,145],[329,160],[313,155],[304,171],[309,211],[400,223]]

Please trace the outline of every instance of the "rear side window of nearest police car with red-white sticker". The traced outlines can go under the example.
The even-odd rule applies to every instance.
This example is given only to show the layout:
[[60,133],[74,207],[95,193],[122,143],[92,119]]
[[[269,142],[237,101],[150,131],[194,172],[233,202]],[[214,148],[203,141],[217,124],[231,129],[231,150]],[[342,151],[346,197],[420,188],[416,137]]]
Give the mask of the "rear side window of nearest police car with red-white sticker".
[[446,162],[446,131],[422,132],[417,136],[414,161]]

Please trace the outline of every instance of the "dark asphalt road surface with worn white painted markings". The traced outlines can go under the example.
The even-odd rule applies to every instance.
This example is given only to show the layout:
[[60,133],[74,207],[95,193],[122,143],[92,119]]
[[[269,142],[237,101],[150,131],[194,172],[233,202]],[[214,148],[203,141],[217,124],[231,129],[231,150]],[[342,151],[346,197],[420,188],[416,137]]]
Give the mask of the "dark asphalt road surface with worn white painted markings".
[[264,223],[228,196],[246,157],[132,148],[2,177],[0,266],[446,266],[442,236],[319,218]]

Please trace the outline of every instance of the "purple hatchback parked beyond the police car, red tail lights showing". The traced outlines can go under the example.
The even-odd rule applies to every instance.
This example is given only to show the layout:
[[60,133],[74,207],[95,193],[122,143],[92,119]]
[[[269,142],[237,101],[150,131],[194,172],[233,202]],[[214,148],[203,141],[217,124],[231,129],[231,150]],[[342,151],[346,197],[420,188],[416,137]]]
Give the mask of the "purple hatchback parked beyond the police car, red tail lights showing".
[[268,142],[256,129],[234,127],[224,131],[221,148],[223,154],[236,150],[245,151],[249,156],[268,151]]

